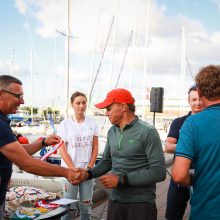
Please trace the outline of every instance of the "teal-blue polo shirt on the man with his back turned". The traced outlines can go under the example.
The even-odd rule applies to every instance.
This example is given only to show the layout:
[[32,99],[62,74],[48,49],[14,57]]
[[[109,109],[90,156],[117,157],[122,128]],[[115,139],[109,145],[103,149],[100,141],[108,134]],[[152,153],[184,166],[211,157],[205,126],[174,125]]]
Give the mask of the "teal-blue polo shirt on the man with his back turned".
[[192,160],[195,168],[191,219],[220,219],[220,104],[185,121],[176,156]]

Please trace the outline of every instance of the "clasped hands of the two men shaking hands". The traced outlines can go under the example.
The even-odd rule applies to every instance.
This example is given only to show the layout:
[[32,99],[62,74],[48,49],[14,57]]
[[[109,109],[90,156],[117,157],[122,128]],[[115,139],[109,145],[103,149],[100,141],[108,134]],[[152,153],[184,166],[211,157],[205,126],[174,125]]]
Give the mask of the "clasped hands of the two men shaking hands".
[[73,185],[78,185],[81,182],[87,180],[89,174],[86,169],[82,168],[68,168],[67,179]]

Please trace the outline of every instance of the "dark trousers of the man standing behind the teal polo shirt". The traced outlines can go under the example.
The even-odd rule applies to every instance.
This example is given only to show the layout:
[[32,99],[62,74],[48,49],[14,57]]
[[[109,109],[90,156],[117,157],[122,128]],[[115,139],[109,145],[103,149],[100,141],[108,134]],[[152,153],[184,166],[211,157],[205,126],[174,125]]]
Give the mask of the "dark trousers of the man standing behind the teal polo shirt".
[[171,179],[167,193],[166,219],[182,220],[189,199],[190,188],[179,186]]

